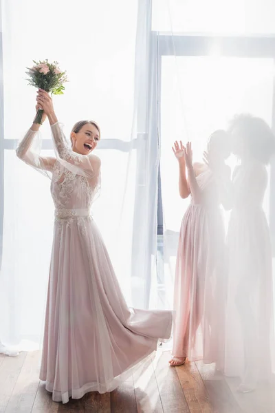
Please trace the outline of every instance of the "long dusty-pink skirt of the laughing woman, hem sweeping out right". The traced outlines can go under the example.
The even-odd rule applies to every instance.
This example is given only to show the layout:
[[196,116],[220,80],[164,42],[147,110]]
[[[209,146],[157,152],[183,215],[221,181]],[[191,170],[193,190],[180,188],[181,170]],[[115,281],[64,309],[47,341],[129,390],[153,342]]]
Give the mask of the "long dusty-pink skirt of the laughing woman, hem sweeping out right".
[[91,217],[56,221],[40,374],[54,401],[111,392],[171,327],[170,311],[127,307]]

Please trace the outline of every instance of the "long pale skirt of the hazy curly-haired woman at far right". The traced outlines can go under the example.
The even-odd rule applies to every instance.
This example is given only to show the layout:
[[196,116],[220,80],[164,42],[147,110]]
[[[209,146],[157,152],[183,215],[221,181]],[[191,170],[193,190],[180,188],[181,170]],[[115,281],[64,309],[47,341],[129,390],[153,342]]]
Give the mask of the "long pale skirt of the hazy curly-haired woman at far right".
[[248,385],[269,379],[274,343],[272,249],[261,207],[232,210],[225,374]]

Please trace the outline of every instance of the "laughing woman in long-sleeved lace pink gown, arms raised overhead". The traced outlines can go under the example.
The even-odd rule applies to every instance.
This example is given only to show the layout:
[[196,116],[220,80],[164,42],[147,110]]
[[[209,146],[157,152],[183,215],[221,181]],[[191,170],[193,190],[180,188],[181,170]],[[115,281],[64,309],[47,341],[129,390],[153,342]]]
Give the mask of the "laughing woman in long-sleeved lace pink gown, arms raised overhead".
[[69,397],[118,387],[159,340],[169,339],[172,312],[128,308],[90,215],[100,186],[100,159],[92,153],[100,140],[98,125],[77,123],[71,148],[50,96],[40,90],[37,100],[50,120],[57,156],[34,152],[39,125],[32,125],[17,156],[52,174],[56,220],[40,379],[54,401],[67,403]]

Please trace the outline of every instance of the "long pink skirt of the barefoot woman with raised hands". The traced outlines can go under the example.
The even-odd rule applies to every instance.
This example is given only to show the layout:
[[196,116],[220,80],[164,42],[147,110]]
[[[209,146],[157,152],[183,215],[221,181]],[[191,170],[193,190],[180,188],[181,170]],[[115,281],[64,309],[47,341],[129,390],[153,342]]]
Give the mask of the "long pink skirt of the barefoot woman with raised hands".
[[190,204],[181,222],[175,274],[173,355],[223,363],[224,228],[218,207]]

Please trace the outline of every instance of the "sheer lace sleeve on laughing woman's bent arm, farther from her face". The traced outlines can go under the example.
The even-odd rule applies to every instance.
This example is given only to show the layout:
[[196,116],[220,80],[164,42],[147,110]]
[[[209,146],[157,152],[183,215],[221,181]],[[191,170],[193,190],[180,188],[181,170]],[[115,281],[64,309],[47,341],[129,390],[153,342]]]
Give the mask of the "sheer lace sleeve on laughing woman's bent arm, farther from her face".
[[34,138],[36,138],[36,135],[36,131],[32,131],[32,129],[28,130],[27,134],[25,134],[23,140],[21,140],[17,147],[17,156],[35,169],[52,172],[56,158],[43,157],[35,151]]

